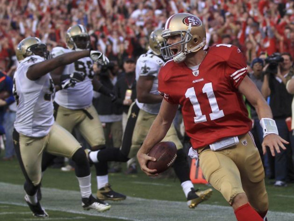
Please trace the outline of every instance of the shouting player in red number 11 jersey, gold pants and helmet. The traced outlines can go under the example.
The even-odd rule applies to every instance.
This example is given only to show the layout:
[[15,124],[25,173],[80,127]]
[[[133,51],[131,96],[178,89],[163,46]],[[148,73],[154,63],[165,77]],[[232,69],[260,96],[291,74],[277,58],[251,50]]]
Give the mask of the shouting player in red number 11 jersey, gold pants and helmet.
[[204,176],[233,207],[238,221],[266,220],[268,195],[263,165],[250,134],[251,120],[242,94],[255,107],[264,131],[263,152],[272,155],[288,142],[278,136],[271,110],[247,76],[246,60],[239,48],[217,44],[204,50],[206,32],[201,20],[188,13],[174,14],[166,22],[161,48],[170,59],[158,75],[164,95],[156,120],[138,151],[141,169],[147,168],[149,150],[165,136],[178,105],[182,105],[191,154],[199,154]]

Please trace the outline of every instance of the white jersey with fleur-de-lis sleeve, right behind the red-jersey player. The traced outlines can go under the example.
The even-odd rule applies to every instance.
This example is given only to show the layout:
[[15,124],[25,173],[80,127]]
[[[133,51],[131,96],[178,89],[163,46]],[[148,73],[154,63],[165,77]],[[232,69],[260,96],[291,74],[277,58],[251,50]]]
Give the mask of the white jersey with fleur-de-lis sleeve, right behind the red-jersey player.
[[[151,94],[158,94],[158,72],[161,66],[163,66],[164,61],[151,53],[149,50],[146,54],[141,55],[136,63],[136,81],[138,81],[140,76],[154,76],[153,85],[150,90]],[[138,107],[147,113],[158,114],[161,103],[157,104],[145,104],[140,103],[136,100]]]

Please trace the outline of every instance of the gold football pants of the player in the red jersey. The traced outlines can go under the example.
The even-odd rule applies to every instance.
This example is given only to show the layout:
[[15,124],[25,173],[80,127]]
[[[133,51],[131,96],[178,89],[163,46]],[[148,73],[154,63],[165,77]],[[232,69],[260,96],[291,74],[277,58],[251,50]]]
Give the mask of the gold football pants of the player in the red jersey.
[[198,149],[200,167],[206,180],[230,205],[237,194],[245,193],[250,205],[264,212],[268,209],[268,194],[258,149],[250,132],[238,138],[239,144],[227,149]]

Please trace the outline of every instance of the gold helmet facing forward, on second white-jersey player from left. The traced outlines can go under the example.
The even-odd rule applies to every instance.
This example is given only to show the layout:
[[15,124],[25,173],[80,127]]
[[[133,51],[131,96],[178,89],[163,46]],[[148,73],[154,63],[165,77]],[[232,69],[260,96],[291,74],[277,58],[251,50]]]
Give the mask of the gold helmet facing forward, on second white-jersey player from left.
[[67,29],[65,42],[69,49],[84,50],[90,46],[90,36],[83,25],[77,24]]

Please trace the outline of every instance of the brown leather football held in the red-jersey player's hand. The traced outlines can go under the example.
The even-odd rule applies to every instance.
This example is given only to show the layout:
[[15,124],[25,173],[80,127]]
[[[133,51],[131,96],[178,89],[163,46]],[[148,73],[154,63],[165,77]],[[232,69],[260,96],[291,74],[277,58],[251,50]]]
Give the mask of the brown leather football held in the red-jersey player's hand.
[[162,173],[163,171],[166,171],[170,166],[172,166],[174,161],[176,160],[176,144],[171,141],[160,142],[151,148],[148,156],[155,157],[156,161],[148,161],[147,167],[149,169],[156,169],[156,173]]

